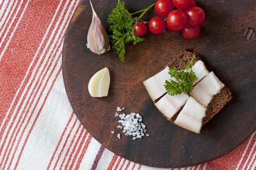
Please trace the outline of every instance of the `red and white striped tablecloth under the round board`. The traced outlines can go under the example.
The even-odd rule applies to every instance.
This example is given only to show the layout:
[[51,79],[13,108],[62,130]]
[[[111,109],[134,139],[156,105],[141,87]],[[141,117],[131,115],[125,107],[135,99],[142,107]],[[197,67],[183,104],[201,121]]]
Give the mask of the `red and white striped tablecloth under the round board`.
[[[111,153],[81,125],[62,78],[62,45],[79,0],[0,0],[0,170],[155,170]],[[256,169],[256,134],[183,170]]]

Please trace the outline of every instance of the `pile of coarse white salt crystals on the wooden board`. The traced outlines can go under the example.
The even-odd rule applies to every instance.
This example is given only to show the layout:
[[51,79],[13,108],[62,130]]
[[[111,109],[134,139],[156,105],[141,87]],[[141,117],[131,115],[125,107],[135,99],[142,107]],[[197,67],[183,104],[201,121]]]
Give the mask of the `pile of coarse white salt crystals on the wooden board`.
[[[144,133],[146,133],[147,130],[145,129],[145,124],[142,123],[142,117],[138,113],[130,113],[127,115],[125,113],[118,113],[123,110],[124,107],[117,107],[115,117],[119,117],[118,122],[121,123],[121,125],[117,125],[117,128],[123,129],[122,133],[124,133],[124,135],[133,136],[133,140],[145,136]],[[113,134],[114,131],[111,131],[111,133]],[[149,136],[149,134],[146,134],[146,136]],[[118,134],[117,137],[120,139],[120,134]]]

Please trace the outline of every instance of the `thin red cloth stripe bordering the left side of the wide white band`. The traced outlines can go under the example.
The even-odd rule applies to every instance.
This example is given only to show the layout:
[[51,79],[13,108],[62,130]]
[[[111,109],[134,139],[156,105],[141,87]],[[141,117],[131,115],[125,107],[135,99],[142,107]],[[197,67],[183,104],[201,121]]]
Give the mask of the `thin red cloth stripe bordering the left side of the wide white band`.
[[[38,119],[38,117],[39,117],[39,115],[40,115],[40,113],[41,113],[41,111],[42,111],[44,105],[45,105],[45,102],[46,102],[46,100],[47,100],[47,98],[48,98],[48,96],[49,96],[49,94],[50,94],[50,92],[51,92],[51,89],[52,89],[54,83],[56,82],[56,80],[57,80],[57,78],[58,78],[58,76],[59,76],[61,70],[62,70],[62,67],[59,68],[59,70],[58,70],[58,72],[57,72],[57,74],[56,74],[56,76],[55,76],[55,78],[54,78],[54,81],[52,82],[51,87],[50,87],[49,91],[47,92],[46,97],[45,97],[45,99],[44,99],[44,101],[43,101],[43,103],[42,103],[42,105],[41,105],[41,107],[40,107],[40,109],[39,109],[39,111],[38,111],[38,113],[37,113],[35,119],[34,119],[34,122],[33,122],[33,124],[32,124],[32,127],[30,128],[29,133],[28,133],[28,135],[26,136],[26,139],[25,139],[25,141],[24,141],[24,143],[23,143],[23,145],[22,145],[21,151],[20,151],[20,153],[19,153],[19,155],[18,155],[18,159],[17,159],[17,162],[16,162],[16,164],[15,164],[15,169],[17,168],[17,165],[18,165],[18,163],[19,163],[21,154],[22,154],[22,152],[23,152],[23,150],[24,150],[24,148],[25,148],[25,145],[26,145],[26,143],[27,143],[27,141],[28,141],[28,138],[29,138],[29,136],[30,136],[30,134],[31,134],[31,132],[32,132],[32,130],[33,130],[33,128],[34,128],[34,125],[35,125],[35,123],[36,123],[36,121],[37,121],[37,119]],[[19,140],[19,142],[20,142],[20,140]],[[18,145],[17,145],[17,146],[18,146]],[[10,165],[11,165],[11,164],[10,164]]]

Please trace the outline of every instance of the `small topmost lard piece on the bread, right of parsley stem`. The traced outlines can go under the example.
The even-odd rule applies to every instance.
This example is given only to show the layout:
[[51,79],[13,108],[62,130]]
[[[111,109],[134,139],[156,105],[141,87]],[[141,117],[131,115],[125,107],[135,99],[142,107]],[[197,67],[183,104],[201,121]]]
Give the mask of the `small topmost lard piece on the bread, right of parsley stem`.
[[205,64],[203,61],[199,60],[197,61],[193,66],[192,70],[196,74],[197,80],[193,82],[193,85],[196,85],[198,82],[200,82],[207,74],[209,74],[209,71],[205,67]]

